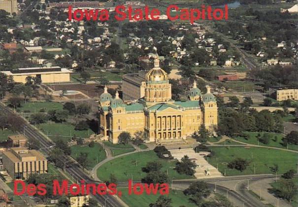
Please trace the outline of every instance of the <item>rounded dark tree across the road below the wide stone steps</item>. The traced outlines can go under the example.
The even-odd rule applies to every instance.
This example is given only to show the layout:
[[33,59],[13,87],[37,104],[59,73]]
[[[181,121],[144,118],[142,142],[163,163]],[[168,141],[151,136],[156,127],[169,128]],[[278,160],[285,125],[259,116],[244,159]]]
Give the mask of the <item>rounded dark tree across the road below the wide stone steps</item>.
[[191,196],[190,200],[196,205],[200,206],[203,198],[210,195],[210,190],[207,184],[203,181],[193,182],[187,189],[183,191],[185,195]]

